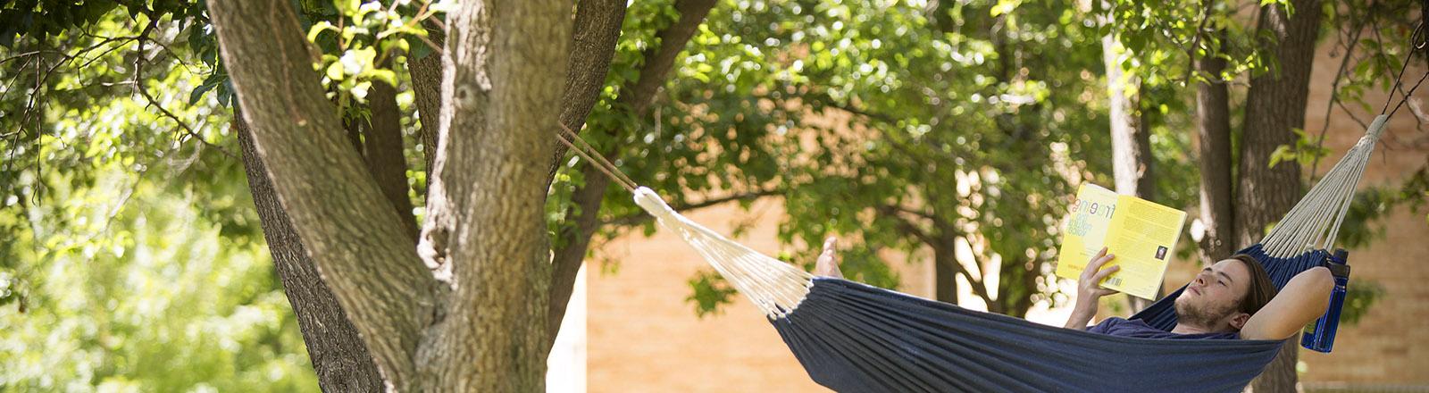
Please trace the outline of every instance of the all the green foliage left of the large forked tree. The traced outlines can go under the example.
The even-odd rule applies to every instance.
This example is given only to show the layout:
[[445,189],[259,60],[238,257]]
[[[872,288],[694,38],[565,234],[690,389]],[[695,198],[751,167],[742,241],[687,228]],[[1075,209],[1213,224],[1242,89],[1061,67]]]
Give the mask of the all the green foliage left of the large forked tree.
[[124,10],[0,49],[0,390],[314,392],[207,26]]

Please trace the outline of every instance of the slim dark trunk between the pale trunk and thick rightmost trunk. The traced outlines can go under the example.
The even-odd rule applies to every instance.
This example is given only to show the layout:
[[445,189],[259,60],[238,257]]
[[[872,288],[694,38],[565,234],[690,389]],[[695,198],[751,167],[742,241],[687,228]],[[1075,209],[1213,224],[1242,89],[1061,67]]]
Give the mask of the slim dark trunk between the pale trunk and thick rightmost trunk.
[[[1219,33],[1222,43],[1225,31]],[[1208,80],[1196,86],[1196,133],[1200,144],[1200,223],[1206,233],[1200,239],[1202,260],[1216,262],[1235,252],[1236,233],[1232,202],[1230,160],[1230,93],[1222,71],[1226,60],[1206,56],[1198,67]]]

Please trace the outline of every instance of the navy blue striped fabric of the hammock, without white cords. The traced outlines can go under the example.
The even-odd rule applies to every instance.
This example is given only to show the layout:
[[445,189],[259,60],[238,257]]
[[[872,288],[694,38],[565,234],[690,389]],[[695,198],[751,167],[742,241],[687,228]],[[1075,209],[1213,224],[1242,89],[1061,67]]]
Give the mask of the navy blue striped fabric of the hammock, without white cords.
[[[1245,252],[1278,287],[1325,257]],[[1176,294],[1133,317],[1169,330]],[[813,279],[799,307],[770,323],[836,392],[1240,392],[1283,343],[1097,334],[830,277]]]

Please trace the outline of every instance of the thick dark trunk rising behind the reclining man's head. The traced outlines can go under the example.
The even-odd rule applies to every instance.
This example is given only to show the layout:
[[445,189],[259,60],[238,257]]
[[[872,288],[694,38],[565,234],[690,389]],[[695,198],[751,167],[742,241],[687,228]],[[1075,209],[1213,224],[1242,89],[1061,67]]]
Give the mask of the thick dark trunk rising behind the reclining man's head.
[[[1296,0],[1296,13],[1278,6],[1260,13],[1260,29],[1276,39],[1270,49],[1278,71],[1250,79],[1246,126],[1240,140],[1240,181],[1236,190],[1236,239],[1259,242],[1266,226],[1285,216],[1300,199],[1300,167],[1293,160],[1269,166],[1278,146],[1295,143],[1293,130],[1305,126],[1315,39],[1320,27],[1320,1]],[[1296,387],[1296,334],[1266,370],[1252,382],[1255,392],[1293,392]]]

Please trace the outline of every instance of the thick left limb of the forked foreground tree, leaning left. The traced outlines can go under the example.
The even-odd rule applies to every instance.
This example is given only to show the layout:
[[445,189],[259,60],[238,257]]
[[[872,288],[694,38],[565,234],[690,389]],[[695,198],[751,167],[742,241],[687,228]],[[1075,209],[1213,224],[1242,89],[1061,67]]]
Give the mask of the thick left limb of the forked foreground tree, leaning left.
[[211,1],[209,13],[283,210],[386,380],[409,390],[433,282],[343,136],[292,4]]

